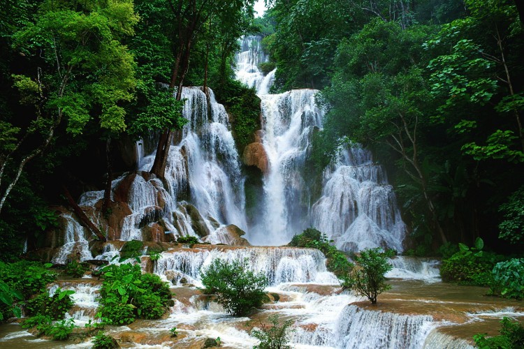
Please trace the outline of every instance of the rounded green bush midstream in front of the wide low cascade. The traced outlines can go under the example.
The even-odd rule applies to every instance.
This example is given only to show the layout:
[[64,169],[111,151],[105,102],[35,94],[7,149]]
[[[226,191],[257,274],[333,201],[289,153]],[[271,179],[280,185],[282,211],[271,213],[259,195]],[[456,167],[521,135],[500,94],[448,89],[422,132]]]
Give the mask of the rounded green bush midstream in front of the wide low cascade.
[[201,290],[206,295],[216,295],[217,302],[231,315],[246,315],[261,306],[266,297],[264,288],[268,279],[262,273],[248,270],[247,260],[228,263],[216,259],[200,276],[204,285]]

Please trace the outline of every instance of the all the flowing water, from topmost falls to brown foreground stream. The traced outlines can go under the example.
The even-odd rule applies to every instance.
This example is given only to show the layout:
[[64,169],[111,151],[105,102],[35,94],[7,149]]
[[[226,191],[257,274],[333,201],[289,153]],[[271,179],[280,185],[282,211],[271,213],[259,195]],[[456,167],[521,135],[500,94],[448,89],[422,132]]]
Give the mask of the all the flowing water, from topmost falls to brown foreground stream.
[[[163,243],[166,237],[155,235],[158,231],[173,237],[205,232],[204,239],[214,244],[163,243],[166,251],[158,260],[141,257],[145,272],[170,283],[175,305],[162,320],[108,327],[106,332],[122,348],[202,348],[206,338],[217,337],[223,348],[252,348],[258,341],[249,336],[246,323],[260,327],[273,314],[293,322],[293,348],[472,348],[473,334],[497,334],[501,316],[523,319],[523,302],[483,297],[483,288],[442,283],[438,260],[392,258],[393,269],[386,276],[393,288],[371,306],[340,288],[318,250],[278,246],[312,226],[340,249],[383,246],[401,252],[405,225],[386,173],[366,149],[340,149],[320,178],[321,188],[314,188],[305,162],[312,133],[323,124],[323,110],[315,103],[318,91],[268,94],[275,70],[264,76],[258,68],[268,59],[260,38],[245,37],[241,47],[236,76],[261,98],[259,142],[268,157],[257,217],[248,219],[245,214],[245,177],[228,114],[210,89],[199,87],[182,91],[188,123],[170,147],[165,181],[147,173],[154,159],[152,135],[137,144],[138,172],[112,183],[112,197],[121,202],[117,207],[123,212],[121,221],[106,223],[101,218],[103,192],[80,198],[89,218],[112,237],[98,255],[89,250],[89,232],[71,214],[61,216],[64,244],[52,258],[58,264],[72,257],[117,262],[115,257],[126,241]],[[230,234],[235,226],[247,232],[251,244],[264,246],[216,245],[238,242]],[[145,244],[143,253],[149,246]],[[271,302],[249,318],[235,318],[203,295],[197,288],[200,272],[217,258],[245,260],[250,270],[265,274]],[[57,288],[75,290],[75,305],[66,318],[80,326],[96,320],[101,281],[89,275],[59,280],[48,291],[53,294]],[[176,338],[170,337],[173,327],[177,327]],[[91,343],[52,342],[36,338],[19,325],[0,326],[0,347],[22,346],[89,348]]]

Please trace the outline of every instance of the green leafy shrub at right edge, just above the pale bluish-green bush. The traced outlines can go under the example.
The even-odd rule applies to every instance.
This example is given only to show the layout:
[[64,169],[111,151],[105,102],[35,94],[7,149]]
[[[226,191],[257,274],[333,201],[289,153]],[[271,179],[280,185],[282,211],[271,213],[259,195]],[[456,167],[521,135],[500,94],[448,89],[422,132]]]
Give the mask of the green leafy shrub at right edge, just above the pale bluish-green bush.
[[504,221],[500,223],[500,239],[511,244],[524,243],[524,186],[511,194],[507,202],[500,205],[499,212],[504,214]]

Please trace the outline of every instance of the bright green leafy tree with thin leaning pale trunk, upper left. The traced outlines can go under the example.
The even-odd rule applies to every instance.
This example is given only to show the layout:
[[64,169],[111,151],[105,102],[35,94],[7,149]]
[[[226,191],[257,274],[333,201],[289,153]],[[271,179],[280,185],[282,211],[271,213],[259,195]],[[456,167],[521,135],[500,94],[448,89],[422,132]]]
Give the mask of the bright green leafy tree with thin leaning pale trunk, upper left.
[[13,75],[14,87],[34,118],[26,119],[16,141],[15,133],[4,133],[12,145],[1,158],[0,180],[6,168],[15,170],[0,210],[24,166],[48,147],[62,119],[76,136],[94,117],[103,132],[123,132],[126,113],[120,103],[131,100],[136,84],[133,57],[121,43],[138,21],[131,0],[45,1],[40,10],[35,22],[14,36],[15,47],[31,62],[26,72]]

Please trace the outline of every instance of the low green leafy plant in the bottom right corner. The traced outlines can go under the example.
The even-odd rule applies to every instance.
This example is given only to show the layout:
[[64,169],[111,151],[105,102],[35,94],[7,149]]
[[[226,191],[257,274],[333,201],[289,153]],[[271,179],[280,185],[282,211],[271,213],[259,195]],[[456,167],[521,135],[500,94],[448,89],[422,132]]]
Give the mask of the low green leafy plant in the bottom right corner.
[[524,348],[524,328],[518,320],[506,316],[500,320],[500,335],[486,338],[486,334],[475,334],[473,339],[479,349],[518,349]]

